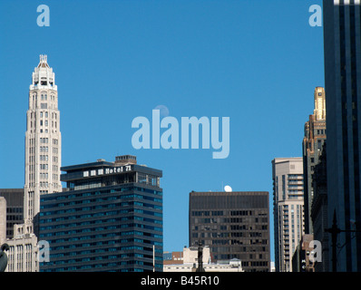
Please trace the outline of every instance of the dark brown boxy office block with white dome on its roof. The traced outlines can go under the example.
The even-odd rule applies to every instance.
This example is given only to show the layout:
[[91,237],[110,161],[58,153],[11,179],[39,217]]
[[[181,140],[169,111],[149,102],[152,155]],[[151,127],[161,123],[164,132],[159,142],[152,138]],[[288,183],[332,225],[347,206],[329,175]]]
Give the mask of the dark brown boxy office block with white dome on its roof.
[[190,247],[210,247],[214,263],[233,258],[245,272],[270,271],[267,191],[190,192]]

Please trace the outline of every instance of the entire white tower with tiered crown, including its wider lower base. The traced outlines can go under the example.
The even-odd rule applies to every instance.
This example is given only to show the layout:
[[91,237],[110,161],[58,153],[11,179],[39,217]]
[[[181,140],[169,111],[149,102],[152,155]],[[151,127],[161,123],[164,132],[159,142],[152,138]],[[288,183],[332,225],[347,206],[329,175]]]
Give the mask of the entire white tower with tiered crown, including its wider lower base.
[[40,195],[62,191],[60,181],[60,112],[55,74],[40,55],[29,87],[26,112],[24,224],[15,225],[9,245],[8,272],[38,272],[38,240],[34,217],[40,212]]

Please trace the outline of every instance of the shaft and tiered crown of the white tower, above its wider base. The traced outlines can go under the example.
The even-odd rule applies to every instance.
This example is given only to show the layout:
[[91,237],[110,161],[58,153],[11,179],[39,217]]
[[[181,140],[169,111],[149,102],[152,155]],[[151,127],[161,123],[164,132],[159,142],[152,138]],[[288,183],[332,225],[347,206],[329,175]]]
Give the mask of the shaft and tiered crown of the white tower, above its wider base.
[[58,88],[55,73],[40,55],[29,88],[26,112],[24,219],[33,220],[39,212],[40,195],[62,191],[62,156]]

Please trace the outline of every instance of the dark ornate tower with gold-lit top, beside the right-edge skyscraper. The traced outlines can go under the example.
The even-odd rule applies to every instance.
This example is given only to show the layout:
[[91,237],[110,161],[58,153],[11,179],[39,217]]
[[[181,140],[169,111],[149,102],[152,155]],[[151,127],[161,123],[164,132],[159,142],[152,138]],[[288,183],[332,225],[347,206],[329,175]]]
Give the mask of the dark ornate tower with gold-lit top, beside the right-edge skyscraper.
[[302,142],[304,198],[305,198],[305,233],[312,234],[311,206],[314,196],[312,175],[322,153],[326,140],[326,99],[324,88],[317,87],[314,92],[315,110],[305,123],[305,137]]

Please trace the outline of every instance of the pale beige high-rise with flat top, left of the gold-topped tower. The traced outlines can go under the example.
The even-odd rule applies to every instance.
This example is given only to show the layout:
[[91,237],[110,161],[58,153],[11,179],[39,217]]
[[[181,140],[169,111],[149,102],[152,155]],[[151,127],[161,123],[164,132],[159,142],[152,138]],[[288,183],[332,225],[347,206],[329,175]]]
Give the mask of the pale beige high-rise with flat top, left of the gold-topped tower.
[[303,159],[272,160],[276,272],[292,272],[292,255],[305,232]]

